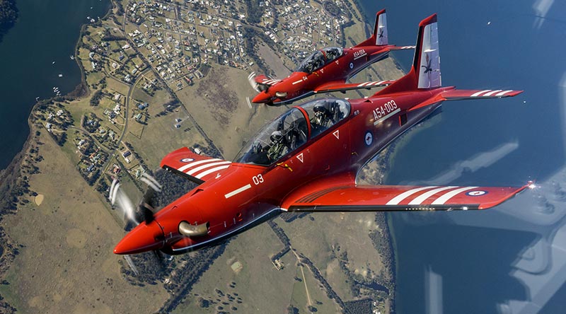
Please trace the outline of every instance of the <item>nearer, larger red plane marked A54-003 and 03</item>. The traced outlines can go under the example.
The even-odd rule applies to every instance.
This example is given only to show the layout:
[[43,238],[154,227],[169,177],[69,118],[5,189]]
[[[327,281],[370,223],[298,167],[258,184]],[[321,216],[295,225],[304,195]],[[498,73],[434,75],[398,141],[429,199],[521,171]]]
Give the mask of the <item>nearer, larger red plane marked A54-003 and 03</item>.
[[233,162],[178,149],[161,167],[199,184],[140,223],[114,252],[180,254],[219,243],[283,211],[487,209],[532,187],[357,185],[359,170],[445,100],[512,90],[441,87],[436,14],[419,25],[410,72],[370,98],[325,98],[265,125]]

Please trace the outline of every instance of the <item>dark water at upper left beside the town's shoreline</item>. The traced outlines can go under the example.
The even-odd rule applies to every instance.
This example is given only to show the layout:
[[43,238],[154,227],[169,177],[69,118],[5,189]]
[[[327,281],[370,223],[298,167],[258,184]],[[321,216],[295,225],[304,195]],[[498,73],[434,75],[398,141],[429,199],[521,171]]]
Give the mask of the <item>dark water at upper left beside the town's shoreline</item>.
[[[19,19],[0,42],[0,169],[21,151],[35,98],[62,94],[81,81],[71,60],[86,17],[102,17],[108,0],[18,0]],[[54,63],[53,63],[54,62]],[[62,74],[62,77],[59,77]]]

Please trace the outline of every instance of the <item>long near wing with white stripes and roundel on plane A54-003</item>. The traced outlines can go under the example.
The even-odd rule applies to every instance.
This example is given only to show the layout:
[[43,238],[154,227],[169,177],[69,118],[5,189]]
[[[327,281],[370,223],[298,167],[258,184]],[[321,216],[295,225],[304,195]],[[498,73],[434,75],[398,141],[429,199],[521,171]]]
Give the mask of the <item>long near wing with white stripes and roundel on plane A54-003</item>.
[[487,209],[529,187],[315,185],[287,197],[289,211],[423,211]]

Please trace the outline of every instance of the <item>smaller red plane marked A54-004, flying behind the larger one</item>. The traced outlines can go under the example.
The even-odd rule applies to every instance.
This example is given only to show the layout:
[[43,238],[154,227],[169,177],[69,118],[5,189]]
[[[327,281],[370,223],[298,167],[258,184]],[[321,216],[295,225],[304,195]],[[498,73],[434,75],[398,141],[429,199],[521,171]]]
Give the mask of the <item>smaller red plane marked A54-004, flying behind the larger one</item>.
[[265,75],[255,77],[255,72],[250,74],[248,80],[255,91],[258,91],[252,102],[279,105],[292,103],[313,93],[388,86],[393,81],[364,83],[346,83],[346,81],[366,66],[388,57],[391,50],[413,48],[415,46],[388,45],[387,19],[383,9],[376,14],[374,34],[357,46],[348,49],[328,47],[317,50],[306,57],[291,75],[282,80],[270,79]]

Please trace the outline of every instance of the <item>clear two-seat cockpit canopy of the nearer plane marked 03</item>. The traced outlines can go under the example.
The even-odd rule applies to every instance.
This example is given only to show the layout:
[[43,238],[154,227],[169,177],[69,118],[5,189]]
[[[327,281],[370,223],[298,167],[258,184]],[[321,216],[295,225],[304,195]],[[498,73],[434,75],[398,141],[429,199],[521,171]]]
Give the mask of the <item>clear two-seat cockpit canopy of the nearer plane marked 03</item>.
[[297,107],[280,115],[250,139],[234,161],[271,165],[350,114],[350,103],[337,98],[313,100],[299,107],[306,115]]

